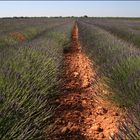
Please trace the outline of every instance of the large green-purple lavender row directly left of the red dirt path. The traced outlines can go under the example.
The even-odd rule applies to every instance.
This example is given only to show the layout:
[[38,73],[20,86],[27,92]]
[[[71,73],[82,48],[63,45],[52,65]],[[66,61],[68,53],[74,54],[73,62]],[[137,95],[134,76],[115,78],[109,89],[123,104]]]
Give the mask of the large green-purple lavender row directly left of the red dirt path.
[[1,140],[43,140],[53,131],[51,102],[60,94],[62,53],[73,26],[72,20],[61,23],[1,53]]

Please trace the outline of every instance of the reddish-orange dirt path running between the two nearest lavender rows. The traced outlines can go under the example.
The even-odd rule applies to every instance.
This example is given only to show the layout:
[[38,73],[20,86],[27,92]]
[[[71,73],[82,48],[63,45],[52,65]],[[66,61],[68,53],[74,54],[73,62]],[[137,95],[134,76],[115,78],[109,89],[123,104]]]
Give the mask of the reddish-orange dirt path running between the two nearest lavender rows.
[[[51,140],[109,140],[122,118],[120,109],[100,98],[102,85],[94,86],[96,71],[82,52],[78,27],[72,32],[71,50],[64,54],[64,94],[56,100],[56,131]],[[97,102],[98,101],[98,102]]]

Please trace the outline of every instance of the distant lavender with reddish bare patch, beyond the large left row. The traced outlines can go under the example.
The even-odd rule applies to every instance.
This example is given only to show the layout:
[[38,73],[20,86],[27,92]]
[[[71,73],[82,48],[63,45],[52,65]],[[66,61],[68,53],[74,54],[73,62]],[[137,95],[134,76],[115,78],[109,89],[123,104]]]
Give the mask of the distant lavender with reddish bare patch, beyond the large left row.
[[65,22],[65,18],[0,19],[0,50],[31,40],[54,25]]

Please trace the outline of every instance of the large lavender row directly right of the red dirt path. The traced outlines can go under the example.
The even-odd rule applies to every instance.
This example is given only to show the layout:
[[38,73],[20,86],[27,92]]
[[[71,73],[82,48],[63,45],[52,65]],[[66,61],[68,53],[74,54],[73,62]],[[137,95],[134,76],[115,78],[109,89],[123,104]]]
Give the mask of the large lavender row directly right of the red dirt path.
[[109,98],[129,112],[116,137],[136,140],[140,138],[140,51],[88,22],[78,21],[83,49],[98,66],[100,78],[114,91]]

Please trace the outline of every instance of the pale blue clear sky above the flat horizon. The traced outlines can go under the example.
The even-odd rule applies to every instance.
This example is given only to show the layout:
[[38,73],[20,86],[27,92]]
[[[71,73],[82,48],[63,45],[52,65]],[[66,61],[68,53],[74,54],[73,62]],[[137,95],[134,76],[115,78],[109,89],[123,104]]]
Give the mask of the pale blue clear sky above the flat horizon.
[[0,1],[0,17],[140,17],[140,1]]

